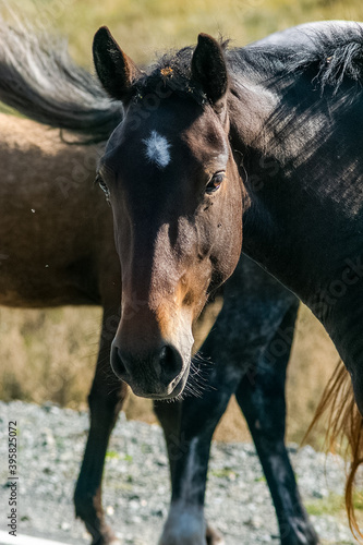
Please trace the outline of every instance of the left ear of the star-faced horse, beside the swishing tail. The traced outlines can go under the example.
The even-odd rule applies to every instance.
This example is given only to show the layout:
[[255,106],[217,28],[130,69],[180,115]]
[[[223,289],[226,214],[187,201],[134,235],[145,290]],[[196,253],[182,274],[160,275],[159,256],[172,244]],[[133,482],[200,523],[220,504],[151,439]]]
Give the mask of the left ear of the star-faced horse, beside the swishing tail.
[[95,34],[93,53],[96,72],[105,90],[112,98],[124,100],[141,71],[120,49],[107,26],[101,26]]

